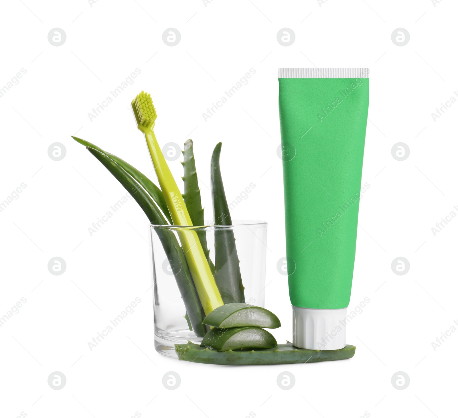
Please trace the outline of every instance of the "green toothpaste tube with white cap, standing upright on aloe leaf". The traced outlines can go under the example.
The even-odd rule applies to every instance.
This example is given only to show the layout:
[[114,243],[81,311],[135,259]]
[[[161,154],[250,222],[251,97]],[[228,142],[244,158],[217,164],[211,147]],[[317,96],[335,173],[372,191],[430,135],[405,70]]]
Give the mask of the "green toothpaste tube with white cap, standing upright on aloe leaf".
[[368,68],[280,68],[293,345],[345,347],[369,106]]

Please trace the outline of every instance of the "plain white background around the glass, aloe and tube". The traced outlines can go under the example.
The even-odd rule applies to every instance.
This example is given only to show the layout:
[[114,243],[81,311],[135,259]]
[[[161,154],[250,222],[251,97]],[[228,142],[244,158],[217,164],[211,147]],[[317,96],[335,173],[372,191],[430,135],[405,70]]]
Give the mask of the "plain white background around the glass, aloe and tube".
[[[437,3],[4,2],[0,87],[21,68],[27,72],[0,98],[0,201],[22,182],[27,187],[0,212],[0,315],[21,297],[27,303],[0,328],[1,417],[456,414],[458,332],[436,350],[431,345],[458,320],[458,219],[436,236],[431,231],[451,211],[458,214],[458,104],[436,121],[431,117],[458,90],[457,5]],[[66,33],[59,47],[47,38],[53,28]],[[167,28],[180,31],[178,45],[164,44]],[[289,47],[277,42],[282,28],[295,33]],[[410,33],[407,45],[393,44],[396,28]],[[362,176],[370,188],[360,203],[349,307],[365,297],[370,303],[347,329],[356,355],[257,367],[159,355],[153,347],[147,218],[129,201],[89,235],[87,228],[125,191],[70,135],[77,132],[150,173],[129,109],[139,91],[150,92],[159,142],[194,139],[207,208],[210,155],[222,141],[228,200],[256,185],[233,219],[269,224],[266,307],[280,317],[283,326],[273,334],[284,342],[291,340],[291,308],[286,277],[276,268],[285,255],[278,67],[314,66],[371,68]],[[141,73],[134,83],[90,121],[93,107],[136,68]],[[256,73],[249,83],[204,121],[202,113],[250,68]],[[60,161],[48,156],[55,142],[66,148]],[[410,149],[404,161],[391,154],[398,142]],[[170,167],[179,179],[179,160]],[[63,275],[48,271],[56,256],[65,259]],[[391,270],[400,256],[410,262],[406,275]],[[135,312],[90,351],[88,341],[135,297],[142,299]],[[53,371],[66,376],[60,391],[47,383]],[[181,377],[174,391],[162,385],[168,371]],[[283,371],[296,380],[287,391],[276,383]],[[391,384],[398,371],[410,377],[405,390]]]

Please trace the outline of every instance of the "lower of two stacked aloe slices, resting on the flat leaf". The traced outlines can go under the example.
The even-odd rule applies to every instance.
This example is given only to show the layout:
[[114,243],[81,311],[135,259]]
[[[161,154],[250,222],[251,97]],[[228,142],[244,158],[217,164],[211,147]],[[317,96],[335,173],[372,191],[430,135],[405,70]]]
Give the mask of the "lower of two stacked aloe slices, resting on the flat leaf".
[[212,328],[203,337],[202,344],[218,351],[240,348],[272,348],[277,345],[273,335],[258,327]]

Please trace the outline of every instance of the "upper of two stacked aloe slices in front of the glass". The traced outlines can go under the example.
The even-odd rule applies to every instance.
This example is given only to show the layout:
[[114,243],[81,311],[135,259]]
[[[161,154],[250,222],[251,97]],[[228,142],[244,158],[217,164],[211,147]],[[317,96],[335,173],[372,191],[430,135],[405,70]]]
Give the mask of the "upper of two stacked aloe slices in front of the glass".
[[241,326],[278,328],[281,325],[275,314],[248,303],[227,303],[219,306],[205,317],[203,323],[217,328]]

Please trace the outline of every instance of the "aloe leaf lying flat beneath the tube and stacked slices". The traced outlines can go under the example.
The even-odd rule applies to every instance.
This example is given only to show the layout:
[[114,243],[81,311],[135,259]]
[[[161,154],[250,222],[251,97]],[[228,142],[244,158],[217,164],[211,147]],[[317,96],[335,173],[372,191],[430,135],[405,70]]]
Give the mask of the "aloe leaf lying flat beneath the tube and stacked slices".
[[201,347],[192,342],[175,344],[179,360],[193,363],[251,365],[251,364],[293,364],[316,363],[322,361],[345,360],[354,356],[356,347],[347,344],[340,350],[307,350],[294,347],[290,342],[273,348],[253,349],[251,351],[220,352]]

